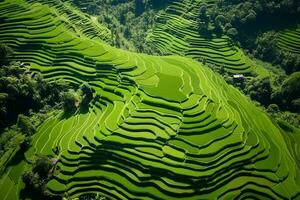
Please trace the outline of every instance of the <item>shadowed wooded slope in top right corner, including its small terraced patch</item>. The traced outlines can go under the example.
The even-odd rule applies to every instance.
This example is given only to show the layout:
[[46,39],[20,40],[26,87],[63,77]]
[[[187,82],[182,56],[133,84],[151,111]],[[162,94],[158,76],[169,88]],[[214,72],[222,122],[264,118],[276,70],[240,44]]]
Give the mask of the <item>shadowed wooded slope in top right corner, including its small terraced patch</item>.
[[300,67],[299,19],[300,4],[293,0],[203,3],[198,14],[206,35],[228,35],[256,58],[280,65],[288,74]]

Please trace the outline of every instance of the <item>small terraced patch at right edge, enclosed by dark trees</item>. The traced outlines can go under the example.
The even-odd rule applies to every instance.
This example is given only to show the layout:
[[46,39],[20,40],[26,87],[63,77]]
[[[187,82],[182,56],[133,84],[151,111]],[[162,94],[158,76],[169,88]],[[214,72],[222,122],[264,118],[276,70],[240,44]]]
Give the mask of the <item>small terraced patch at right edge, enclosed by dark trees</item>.
[[279,48],[294,54],[300,54],[300,26],[281,31],[277,42]]

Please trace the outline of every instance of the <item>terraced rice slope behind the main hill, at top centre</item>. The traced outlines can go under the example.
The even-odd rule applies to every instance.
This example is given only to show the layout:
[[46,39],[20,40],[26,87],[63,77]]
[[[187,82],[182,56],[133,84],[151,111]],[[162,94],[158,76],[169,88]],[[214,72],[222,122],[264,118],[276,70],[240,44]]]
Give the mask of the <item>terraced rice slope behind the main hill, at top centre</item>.
[[184,55],[195,60],[224,67],[232,73],[247,73],[255,70],[254,64],[227,36],[211,38],[198,32],[198,12],[206,2],[212,6],[217,1],[175,1],[156,19],[149,35],[151,42],[164,55]]

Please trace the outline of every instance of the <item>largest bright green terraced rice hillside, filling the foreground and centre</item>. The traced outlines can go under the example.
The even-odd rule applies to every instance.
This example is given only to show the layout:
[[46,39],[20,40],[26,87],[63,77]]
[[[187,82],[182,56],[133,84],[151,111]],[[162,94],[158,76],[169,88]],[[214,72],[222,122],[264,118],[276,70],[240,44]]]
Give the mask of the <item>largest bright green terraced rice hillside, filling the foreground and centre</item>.
[[[299,199],[297,145],[288,148],[281,131],[238,90],[192,59],[119,50],[86,29],[78,35],[60,18],[59,5],[0,3],[0,42],[14,48],[13,59],[48,80],[88,82],[96,90],[89,112],[49,118],[26,152],[30,161],[35,154],[55,156],[60,147],[50,192]],[[22,187],[12,180],[0,181],[4,199],[16,199]]]

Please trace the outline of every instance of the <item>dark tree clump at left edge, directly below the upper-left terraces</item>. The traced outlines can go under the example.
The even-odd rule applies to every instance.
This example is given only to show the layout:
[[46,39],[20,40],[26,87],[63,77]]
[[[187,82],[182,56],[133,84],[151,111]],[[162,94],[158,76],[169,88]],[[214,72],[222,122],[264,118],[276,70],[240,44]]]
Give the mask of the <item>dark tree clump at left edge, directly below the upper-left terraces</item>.
[[[19,114],[30,112],[44,113],[61,102],[60,94],[69,86],[64,82],[48,82],[39,73],[30,73],[29,67],[22,62],[12,62],[0,68],[1,118],[0,127],[8,127],[17,122]],[[19,120],[18,124],[24,122]],[[22,124],[20,124],[22,125]],[[26,127],[25,127],[26,128]],[[32,130],[28,135],[32,134]]]

